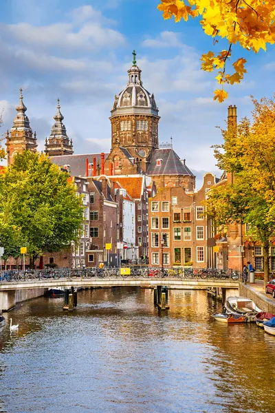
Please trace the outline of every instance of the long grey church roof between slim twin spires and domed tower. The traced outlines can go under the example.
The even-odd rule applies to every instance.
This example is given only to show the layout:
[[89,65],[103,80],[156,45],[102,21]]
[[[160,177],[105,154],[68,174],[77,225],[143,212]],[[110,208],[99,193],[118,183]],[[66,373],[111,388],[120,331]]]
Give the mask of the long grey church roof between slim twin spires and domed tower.
[[[105,159],[109,153],[104,153]],[[72,176],[86,176],[86,159],[89,163],[93,163],[94,157],[96,157],[96,164],[101,166],[100,153],[85,153],[84,155],[63,155],[53,156],[51,158],[52,163],[63,167],[69,165]]]

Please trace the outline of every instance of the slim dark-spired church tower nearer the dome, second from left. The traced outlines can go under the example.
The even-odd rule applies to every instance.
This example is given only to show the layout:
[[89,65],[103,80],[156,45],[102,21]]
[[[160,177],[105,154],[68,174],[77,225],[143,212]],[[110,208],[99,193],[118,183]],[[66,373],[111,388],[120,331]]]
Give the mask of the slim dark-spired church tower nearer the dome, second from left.
[[57,99],[57,111],[54,116],[55,123],[49,139],[45,140],[45,153],[49,156],[72,155],[73,142],[69,140],[65,125],[63,124],[64,116],[61,114],[61,105]]

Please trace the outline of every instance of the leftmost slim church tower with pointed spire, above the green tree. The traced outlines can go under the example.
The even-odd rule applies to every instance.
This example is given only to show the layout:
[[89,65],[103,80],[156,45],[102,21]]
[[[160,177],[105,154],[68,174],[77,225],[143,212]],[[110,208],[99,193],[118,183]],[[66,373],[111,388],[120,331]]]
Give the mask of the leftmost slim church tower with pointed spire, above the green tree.
[[9,166],[13,162],[14,155],[16,153],[22,153],[24,150],[36,152],[37,140],[36,132],[32,135],[32,129],[30,127],[30,121],[25,114],[27,107],[23,103],[22,89],[20,89],[20,102],[16,107],[17,116],[13,121],[13,126],[7,131],[6,136],[6,152],[7,152],[7,165]]

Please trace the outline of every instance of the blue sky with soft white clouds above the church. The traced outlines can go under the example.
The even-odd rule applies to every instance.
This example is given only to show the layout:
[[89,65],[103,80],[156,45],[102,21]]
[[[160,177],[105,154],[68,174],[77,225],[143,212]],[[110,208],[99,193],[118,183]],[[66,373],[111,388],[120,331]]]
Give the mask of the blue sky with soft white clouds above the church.
[[[111,147],[110,110],[126,85],[132,51],[142,70],[144,87],[159,107],[159,142],[170,142],[197,176],[216,176],[212,145],[222,142],[228,105],[238,118],[250,116],[255,98],[274,93],[275,47],[252,52],[234,47],[232,62],[248,60],[240,85],[228,87],[229,98],[212,100],[213,73],[200,69],[200,57],[213,46],[199,20],[162,18],[158,0],[1,0],[0,111],[3,131],[12,127],[23,88],[30,126],[44,149],[61,100],[63,123],[74,153],[98,153]],[[235,57],[235,59],[234,59]],[[230,67],[229,67],[230,69]]]

